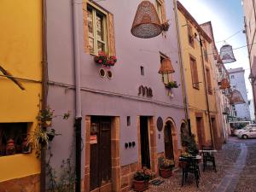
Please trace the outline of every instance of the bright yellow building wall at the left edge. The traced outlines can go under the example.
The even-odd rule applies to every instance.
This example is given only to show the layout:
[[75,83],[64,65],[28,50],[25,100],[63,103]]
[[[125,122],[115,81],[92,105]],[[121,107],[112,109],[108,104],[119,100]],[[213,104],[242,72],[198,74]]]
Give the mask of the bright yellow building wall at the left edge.
[[[0,66],[13,76],[42,79],[41,23],[41,1],[0,1]],[[41,84],[20,83],[26,90],[0,77],[0,123],[30,122],[32,131],[37,126]],[[0,156],[0,170],[0,182],[26,177],[40,172],[40,161],[34,153]]]

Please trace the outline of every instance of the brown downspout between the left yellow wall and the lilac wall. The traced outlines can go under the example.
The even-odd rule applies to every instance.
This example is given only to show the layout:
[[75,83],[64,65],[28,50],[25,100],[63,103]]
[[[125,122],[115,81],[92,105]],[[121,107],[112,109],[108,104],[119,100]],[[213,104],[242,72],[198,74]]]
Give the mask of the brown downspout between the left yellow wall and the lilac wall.
[[[47,61],[47,17],[46,17],[46,0],[42,0],[42,109],[47,106],[48,93],[48,61]],[[46,129],[46,127],[42,127]],[[40,174],[40,191],[45,192],[45,178],[46,178],[46,146],[41,146],[41,174]]]

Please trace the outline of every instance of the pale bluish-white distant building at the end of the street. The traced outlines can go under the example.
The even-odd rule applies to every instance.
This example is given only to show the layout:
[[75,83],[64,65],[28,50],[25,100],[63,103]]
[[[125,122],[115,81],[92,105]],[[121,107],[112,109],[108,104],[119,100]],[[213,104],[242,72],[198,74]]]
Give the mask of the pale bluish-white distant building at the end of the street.
[[234,114],[237,118],[251,119],[247,99],[247,88],[244,79],[244,69],[242,67],[228,70],[230,73],[230,85],[232,90],[239,90],[246,103],[233,105]]

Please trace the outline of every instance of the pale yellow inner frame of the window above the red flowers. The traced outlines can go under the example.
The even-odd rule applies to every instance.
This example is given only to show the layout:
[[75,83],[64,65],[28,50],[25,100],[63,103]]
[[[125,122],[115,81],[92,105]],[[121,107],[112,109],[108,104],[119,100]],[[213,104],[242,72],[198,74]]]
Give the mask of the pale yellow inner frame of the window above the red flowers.
[[[88,23],[87,23],[87,30],[88,30],[88,45],[90,46],[90,38],[93,39],[94,43],[93,43],[93,46],[94,46],[94,52],[90,52],[90,55],[98,55],[98,42],[100,42],[101,44],[104,44],[104,52],[106,54],[108,54],[109,52],[109,49],[108,49],[108,44],[109,44],[109,26],[108,26],[108,12],[101,9],[100,7],[96,6],[96,4],[94,3],[90,3],[90,2],[87,2],[87,5],[86,5],[86,14],[88,12],[88,9],[91,9],[92,10],[92,26],[93,26],[93,36],[94,37],[91,37],[90,36],[90,33],[89,33],[89,27],[88,27]],[[103,23],[103,27],[102,27],[102,33],[103,33],[103,38],[105,39],[102,40],[102,39],[98,39],[97,38],[97,30],[96,30],[96,16],[98,15],[102,15],[102,23]],[[88,20],[88,19],[87,19]],[[88,22],[88,21],[87,21]]]

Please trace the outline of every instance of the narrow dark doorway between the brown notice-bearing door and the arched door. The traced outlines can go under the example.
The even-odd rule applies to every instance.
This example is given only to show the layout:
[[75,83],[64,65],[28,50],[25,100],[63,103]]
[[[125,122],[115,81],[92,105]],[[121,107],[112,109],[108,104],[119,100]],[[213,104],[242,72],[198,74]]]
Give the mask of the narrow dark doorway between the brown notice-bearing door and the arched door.
[[150,169],[150,154],[148,142],[148,117],[140,117],[140,132],[141,132],[141,155],[142,166],[147,166]]

